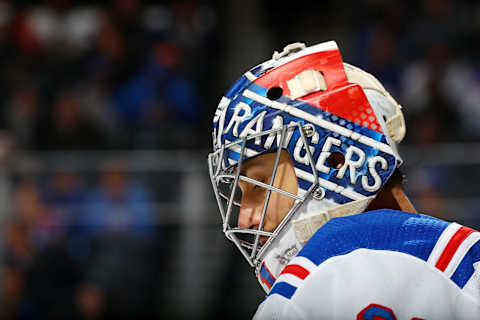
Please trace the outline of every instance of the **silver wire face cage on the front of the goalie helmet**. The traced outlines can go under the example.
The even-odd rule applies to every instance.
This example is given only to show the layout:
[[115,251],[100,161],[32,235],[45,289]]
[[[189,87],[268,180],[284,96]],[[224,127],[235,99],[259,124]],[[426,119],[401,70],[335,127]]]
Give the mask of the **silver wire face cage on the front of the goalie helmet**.
[[[272,242],[270,239],[273,239],[283,226],[283,223],[280,224],[273,232],[263,231],[271,193],[278,192],[296,201],[284,219],[286,222],[297,210],[300,204],[306,199],[306,197],[311,193],[311,190],[317,186],[317,184],[312,184],[310,189],[300,196],[299,194],[290,193],[273,185],[275,176],[277,174],[280,154],[283,150],[283,148],[279,147],[277,147],[275,151],[275,162],[272,167],[270,181],[266,181],[267,183],[265,183],[241,174],[244,160],[249,159],[249,152],[247,152],[249,149],[246,147],[249,143],[255,139],[268,137],[274,134],[278,138],[278,145],[283,145],[288,133],[292,131],[300,132],[301,139],[304,141],[303,145],[307,145],[308,142],[303,133],[301,123],[292,123],[290,125],[283,125],[278,129],[267,130],[261,134],[255,134],[249,137],[238,139],[237,141],[224,145],[219,150],[211,153],[208,157],[210,179],[220,209],[220,214],[222,216],[223,232],[229,240],[235,243],[237,248],[251,266],[258,264],[263,253],[268,249]],[[232,150],[238,152],[239,154],[238,163],[235,166],[227,167],[225,165],[225,160],[228,160],[228,157],[225,157],[225,154]],[[309,162],[314,163],[310,150],[305,149],[305,153],[310,158]],[[313,168],[312,171],[315,172]],[[266,189],[260,223],[258,228],[255,230],[237,227],[241,205],[241,190],[239,187],[240,181],[245,181]],[[260,241],[261,237],[267,238],[267,240]]]

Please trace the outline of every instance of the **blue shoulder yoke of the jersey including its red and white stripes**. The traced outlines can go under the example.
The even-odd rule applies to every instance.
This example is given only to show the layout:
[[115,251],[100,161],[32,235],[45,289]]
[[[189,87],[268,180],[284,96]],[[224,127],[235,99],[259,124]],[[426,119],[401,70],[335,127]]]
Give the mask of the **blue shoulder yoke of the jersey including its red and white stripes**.
[[294,281],[279,278],[269,295],[291,298],[303,282],[297,279],[307,278],[331,258],[359,249],[423,260],[426,268],[426,264],[437,268],[460,289],[473,287],[480,292],[479,240],[480,233],[473,229],[423,214],[383,209],[335,218],[322,226],[282,271]]

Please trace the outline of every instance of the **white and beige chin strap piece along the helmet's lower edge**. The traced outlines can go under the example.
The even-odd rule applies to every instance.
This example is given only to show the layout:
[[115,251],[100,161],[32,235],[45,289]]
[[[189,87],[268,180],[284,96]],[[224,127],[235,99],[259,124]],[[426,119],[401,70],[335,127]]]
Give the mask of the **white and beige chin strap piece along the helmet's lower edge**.
[[294,214],[291,223],[273,240],[265,258],[256,268],[257,279],[266,293],[270,288],[261,277],[262,265],[276,280],[288,262],[297,255],[317,230],[330,219],[362,213],[375,196],[338,205],[330,200],[309,198]]

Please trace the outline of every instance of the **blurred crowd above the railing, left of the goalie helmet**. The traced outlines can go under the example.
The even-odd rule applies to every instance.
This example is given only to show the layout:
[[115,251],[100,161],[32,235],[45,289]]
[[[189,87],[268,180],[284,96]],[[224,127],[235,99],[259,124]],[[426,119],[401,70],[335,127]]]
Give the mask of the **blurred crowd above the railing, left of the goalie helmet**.
[[17,148],[192,148],[212,8],[0,2],[0,124]]

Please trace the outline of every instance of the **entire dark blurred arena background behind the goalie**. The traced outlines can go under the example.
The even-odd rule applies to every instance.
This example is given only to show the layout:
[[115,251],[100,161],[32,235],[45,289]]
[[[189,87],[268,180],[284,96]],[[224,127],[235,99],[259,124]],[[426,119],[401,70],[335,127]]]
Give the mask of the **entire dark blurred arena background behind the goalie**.
[[244,71],[334,39],[404,106],[407,193],[480,227],[477,1],[0,1],[0,319],[245,319],[210,121]]

